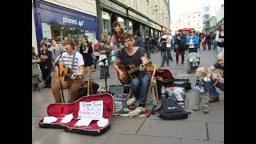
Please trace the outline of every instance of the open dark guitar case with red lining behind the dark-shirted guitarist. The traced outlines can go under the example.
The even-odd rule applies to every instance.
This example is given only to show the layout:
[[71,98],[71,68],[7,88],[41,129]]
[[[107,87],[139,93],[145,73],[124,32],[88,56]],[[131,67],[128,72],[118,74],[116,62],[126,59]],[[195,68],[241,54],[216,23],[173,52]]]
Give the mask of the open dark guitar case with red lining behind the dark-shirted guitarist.
[[[171,74],[170,70],[167,69],[158,69],[156,72],[157,76],[157,85],[158,85],[158,94],[161,95],[161,87],[183,87],[185,90],[191,89],[191,83],[189,78],[177,79],[174,78],[173,74]],[[160,79],[160,78],[161,79]]]

